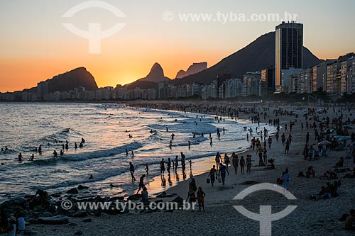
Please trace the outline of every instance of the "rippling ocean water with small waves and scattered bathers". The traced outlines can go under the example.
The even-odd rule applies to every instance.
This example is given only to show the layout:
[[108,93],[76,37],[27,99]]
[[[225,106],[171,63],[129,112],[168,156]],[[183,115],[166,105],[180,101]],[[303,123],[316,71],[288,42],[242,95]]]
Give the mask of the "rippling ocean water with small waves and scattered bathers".
[[[201,118],[197,113],[108,103],[0,103],[0,111],[0,147],[9,149],[0,152],[3,163],[0,165],[0,202],[25,193],[33,194],[37,189],[52,193],[79,184],[89,186],[90,193],[100,196],[126,196],[138,189],[138,181],[131,181],[129,162],[136,167],[137,180],[148,164],[146,182],[153,181],[159,176],[162,158],[174,159],[178,155],[180,163],[180,152],[184,152],[188,169],[189,160],[195,165],[216,152],[240,152],[249,147],[243,127],[255,130],[257,126],[247,120],[225,118],[218,123],[214,116]],[[275,132],[275,128],[268,125],[260,128],[264,126],[269,134]],[[217,128],[222,133],[220,140]],[[175,137],[170,149],[172,133]],[[212,146],[209,133],[214,141]],[[133,137],[129,138],[129,134]],[[79,146],[82,137],[86,140],[84,147],[75,150],[75,142]],[[66,140],[69,149],[60,156]],[[39,145],[42,145],[42,154],[35,152]],[[133,150],[134,156],[126,155],[126,149],[130,153]],[[53,150],[58,152],[58,157],[53,157]],[[23,155],[22,162],[17,159],[19,152]],[[33,162],[28,160],[31,154],[35,154]],[[94,179],[89,179],[90,174]]]

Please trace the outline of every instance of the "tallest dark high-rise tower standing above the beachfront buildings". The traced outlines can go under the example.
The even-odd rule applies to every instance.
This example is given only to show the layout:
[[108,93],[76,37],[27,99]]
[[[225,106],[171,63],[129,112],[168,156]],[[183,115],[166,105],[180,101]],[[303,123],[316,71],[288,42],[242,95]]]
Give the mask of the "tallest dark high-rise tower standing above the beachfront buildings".
[[303,67],[303,24],[291,21],[276,26],[275,90],[283,91],[282,70]]

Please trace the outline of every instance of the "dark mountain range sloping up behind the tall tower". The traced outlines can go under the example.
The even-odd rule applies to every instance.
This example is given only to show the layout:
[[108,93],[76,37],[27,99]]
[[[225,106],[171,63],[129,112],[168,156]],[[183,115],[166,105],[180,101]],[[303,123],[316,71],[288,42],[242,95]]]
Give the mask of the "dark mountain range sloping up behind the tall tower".
[[[320,64],[322,60],[318,59],[315,55],[303,47],[303,67],[304,69],[308,67],[314,67]],[[157,63],[155,63],[157,64]],[[203,69],[200,72],[187,75],[181,79],[172,79],[169,82],[180,85],[180,84],[192,84],[194,82],[200,84],[210,84],[214,79],[217,79],[218,75],[231,74],[234,78],[242,78],[246,72],[256,72],[261,71],[261,69],[266,69],[268,67],[275,66],[275,31],[261,35],[259,38],[254,40],[252,43],[242,48],[241,50],[234,52],[234,54],[229,55],[224,58],[214,66],[208,69]],[[160,67],[161,68],[161,67]],[[153,68],[152,68],[153,69]],[[190,68],[189,68],[190,69]],[[187,72],[189,71],[187,69]],[[142,83],[141,80],[146,80],[150,82],[160,82],[163,81],[162,74],[163,69],[161,69],[160,76],[157,79],[138,79],[138,81],[129,84],[129,88],[140,87],[141,89],[148,89],[156,87],[156,84],[146,84]],[[148,74],[148,76],[151,73]],[[183,74],[183,73],[180,73]],[[177,74],[180,76],[180,74]],[[147,76],[147,77],[148,77]],[[146,77],[146,78],[147,78]],[[164,77],[168,79],[167,77]]]

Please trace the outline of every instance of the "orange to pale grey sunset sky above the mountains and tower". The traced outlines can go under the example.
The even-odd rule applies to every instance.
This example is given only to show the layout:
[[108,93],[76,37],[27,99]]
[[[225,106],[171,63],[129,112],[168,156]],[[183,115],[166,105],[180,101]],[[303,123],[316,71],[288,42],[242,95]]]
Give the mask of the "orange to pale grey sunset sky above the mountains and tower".
[[[84,9],[63,18],[83,0],[11,0],[0,2],[0,91],[16,91],[76,67],[86,67],[99,86],[127,84],[145,77],[154,62],[165,76],[175,78],[193,62],[212,66],[275,30],[280,21],[217,20],[244,13],[297,14],[304,24],[304,45],[317,57],[335,58],[355,49],[355,1],[116,1],[105,2],[121,10],[117,18],[104,9]],[[165,21],[165,12],[174,15]],[[180,21],[181,13],[212,14],[211,21]],[[229,15],[228,15],[229,14]],[[239,15],[240,16],[240,15]],[[116,23],[126,26],[101,40],[101,53],[90,54],[88,40],[70,33],[62,23],[87,30],[88,23],[101,23],[102,30]]]

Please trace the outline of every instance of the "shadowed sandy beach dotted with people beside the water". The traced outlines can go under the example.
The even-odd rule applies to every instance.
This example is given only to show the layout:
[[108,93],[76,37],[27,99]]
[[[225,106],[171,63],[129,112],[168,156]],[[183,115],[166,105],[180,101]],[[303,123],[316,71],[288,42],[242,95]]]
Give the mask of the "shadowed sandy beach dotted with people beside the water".
[[[162,106],[163,107],[163,106]],[[292,111],[290,106],[284,106],[284,109]],[[187,110],[189,111],[189,110]],[[191,111],[191,110],[190,110]],[[268,119],[274,119],[272,113],[273,107],[270,107],[266,120],[261,116],[261,123],[267,123]],[[198,112],[198,111],[193,111]],[[348,111],[343,111],[344,116],[348,115]],[[212,111],[211,111],[212,113]],[[250,114],[239,114],[240,119],[249,119]],[[334,117],[332,108],[327,114],[320,114],[323,117]],[[241,205],[254,213],[259,213],[259,206],[271,205],[273,213],[283,210],[288,205],[295,205],[297,208],[283,219],[272,223],[272,235],[350,235],[351,232],[344,230],[344,222],[340,222],[339,218],[344,213],[349,213],[354,208],[355,203],[355,182],[354,179],[344,179],[346,173],[339,173],[338,176],[342,181],[342,186],[338,189],[339,196],[335,198],[311,200],[312,194],[320,192],[321,186],[325,186],[327,181],[320,179],[327,170],[339,161],[339,157],[345,157],[349,150],[335,151],[330,150],[327,157],[320,157],[318,160],[305,160],[302,156],[303,147],[305,147],[305,133],[310,132],[310,145],[316,144],[314,131],[311,128],[302,130],[301,123],[305,124],[305,117],[299,116],[278,116],[280,125],[295,122],[292,130],[293,140],[290,144],[290,152],[284,153],[285,147],[279,140],[276,142],[273,137],[272,148],[268,149],[268,159],[275,159],[275,169],[266,170],[265,167],[256,167],[258,157],[256,151],[249,150],[241,155],[251,154],[253,167],[251,173],[234,174],[233,167],[229,167],[229,175],[226,176],[226,184],[216,181],[212,187],[207,184],[207,175],[209,168],[214,164],[214,157],[210,157],[204,163],[192,164],[193,167],[198,165],[200,168],[205,167],[205,172],[199,170],[195,174],[197,186],[201,186],[206,196],[204,198],[205,211],[196,210],[174,210],[173,212],[148,212],[138,213],[131,211],[124,215],[107,215],[100,217],[89,215],[85,218],[70,218],[68,225],[28,225],[28,229],[35,232],[35,235],[259,235],[259,223],[257,221],[246,218],[234,209],[234,205]],[[351,118],[352,119],[352,118]],[[296,121],[297,120],[297,121]],[[309,121],[310,124],[313,121]],[[318,123],[317,123],[318,124]],[[285,128],[280,130],[280,135],[285,133],[286,137],[290,131]],[[227,134],[226,134],[227,135]],[[348,141],[349,142],[349,141]],[[222,157],[224,153],[221,153]],[[315,169],[315,177],[305,178],[297,177],[299,172],[305,173],[307,167],[313,166]],[[344,167],[353,169],[352,159],[345,159]],[[233,201],[232,199],[238,193],[251,186],[246,181],[254,181],[254,183],[271,183],[276,184],[276,179],[285,169],[290,170],[290,188],[289,191],[297,198],[290,201],[280,193],[273,191],[258,191],[251,193],[242,201]],[[187,163],[187,173],[188,163]],[[196,170],[197,172],[197,170]],[[351,173],[351,172],[350,172]],[[167,174],[165,174],[166,176]],[[155,184],[160,179],[157,178]],[[187,198],[189,177],[186,181],[179,182],[176,186],[166,191],[168,194],[175,194],[171,198],[156,198],[152,201],[162,199],[163,201],[171,201],[176,196]],[[154,183],[152,183],[154,184]],[[149,191],[149,189],[148,189]],[[84,222],[84,219],[91,219],[91,222]],[[89,221],[89,220],[87,220]]]

